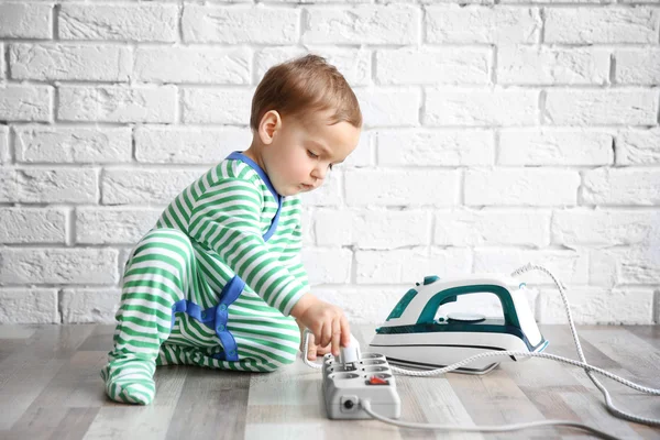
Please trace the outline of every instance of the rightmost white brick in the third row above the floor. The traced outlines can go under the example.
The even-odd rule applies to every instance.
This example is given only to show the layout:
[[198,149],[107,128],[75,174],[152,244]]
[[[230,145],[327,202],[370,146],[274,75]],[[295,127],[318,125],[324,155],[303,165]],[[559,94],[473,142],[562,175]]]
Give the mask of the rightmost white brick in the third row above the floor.
[[660,212],[569,209],[552,216],[552,243],[568,248],[645,245],[660,241]]

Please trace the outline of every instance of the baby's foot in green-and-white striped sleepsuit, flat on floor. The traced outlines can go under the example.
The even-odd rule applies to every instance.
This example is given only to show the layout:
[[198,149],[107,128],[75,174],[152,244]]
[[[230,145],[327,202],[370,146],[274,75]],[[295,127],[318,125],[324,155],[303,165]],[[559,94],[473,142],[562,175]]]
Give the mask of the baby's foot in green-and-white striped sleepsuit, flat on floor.
[[156,394],[156,364],[139,359],[114,359],[101,370],[106,394],[114,402],[148,405]]

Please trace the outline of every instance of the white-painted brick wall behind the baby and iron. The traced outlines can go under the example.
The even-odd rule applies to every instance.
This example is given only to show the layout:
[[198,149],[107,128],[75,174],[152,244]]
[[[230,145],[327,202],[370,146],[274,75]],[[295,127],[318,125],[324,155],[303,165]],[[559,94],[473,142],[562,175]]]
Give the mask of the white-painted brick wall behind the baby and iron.
[[132,245],[306,52],[365,119],[305,196],[320,297],[375,322],[425,275],[532,261],[580,322],[660,321],[658,0],[0,0],[0,323],[112,321]]

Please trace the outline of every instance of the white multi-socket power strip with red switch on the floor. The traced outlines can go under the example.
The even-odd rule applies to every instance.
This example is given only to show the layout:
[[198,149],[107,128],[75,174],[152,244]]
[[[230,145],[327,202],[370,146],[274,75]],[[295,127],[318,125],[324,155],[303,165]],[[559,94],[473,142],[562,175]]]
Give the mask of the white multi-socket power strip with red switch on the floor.
[[394,373],[383,354],[362,353],[356,362],[346,364],[326,354],[322,386],[331,419],[371,419],[360,404],[364,399],[385,417],[398,419],[402,415]]

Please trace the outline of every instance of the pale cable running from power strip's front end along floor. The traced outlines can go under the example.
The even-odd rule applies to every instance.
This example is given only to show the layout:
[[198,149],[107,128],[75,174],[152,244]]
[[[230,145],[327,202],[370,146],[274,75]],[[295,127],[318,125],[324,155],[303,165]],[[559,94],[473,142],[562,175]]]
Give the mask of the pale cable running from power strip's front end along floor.
[[441,429],[444,431],[468,431],[468,432],[507,432],[507,431],[519,431],[522,429],[529,428],[542,428],[547,426],[565,426],[578,429],[583,429],[593,435],[602,437],[607,440],[618,440],[616,437],[610,436],[606,432],[600,431],[595,428],[590,427],[588,425],[579,424],[576,421],[571,420],[539,420],[539,421],[530,421],[527,424],[514,424],[514,425],[492,425],[492,426],[480,426],[480,427],[461,427],[455,425],[435,425],[435,424],[415,424],[411,421],[399,421],[395,419],[391,419],[387,417],[383,417],[373,411],[371,408],[371,403],[369,399],[361,399],[360,405],[362,409],[370,416],[386,424],[396,425],[403,428],[411,428],[411,429]]

